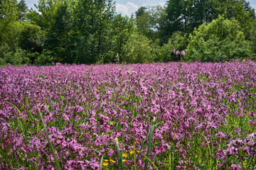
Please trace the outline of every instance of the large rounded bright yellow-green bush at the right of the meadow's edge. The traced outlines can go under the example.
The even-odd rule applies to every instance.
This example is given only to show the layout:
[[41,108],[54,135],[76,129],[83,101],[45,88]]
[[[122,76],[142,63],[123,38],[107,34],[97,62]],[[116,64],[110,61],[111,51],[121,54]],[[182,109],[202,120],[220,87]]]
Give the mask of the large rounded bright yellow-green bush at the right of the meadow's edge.
[[219,16],[211,23],[203,23],[189,36],[186,60],[220,62],[223,57],[239,59],[251,57],[252,50],[238,21]]

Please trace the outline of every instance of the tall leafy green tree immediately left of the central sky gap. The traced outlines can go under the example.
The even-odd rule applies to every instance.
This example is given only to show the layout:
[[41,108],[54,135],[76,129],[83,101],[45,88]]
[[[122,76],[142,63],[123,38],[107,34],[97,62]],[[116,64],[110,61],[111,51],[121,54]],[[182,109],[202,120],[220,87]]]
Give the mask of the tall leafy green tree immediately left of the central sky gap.
[[110,62],[112,49],[112,0],[80,0],[75,8],[75,23],[80,42],[78,59],[80,63]]

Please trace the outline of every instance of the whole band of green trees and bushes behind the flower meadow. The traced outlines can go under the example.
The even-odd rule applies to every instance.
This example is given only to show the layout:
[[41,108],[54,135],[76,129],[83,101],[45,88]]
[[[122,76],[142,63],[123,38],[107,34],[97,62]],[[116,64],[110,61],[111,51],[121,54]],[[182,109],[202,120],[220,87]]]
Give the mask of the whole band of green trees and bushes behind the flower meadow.
[[220,62],[255,54],[255,10],[246,0],[169,0],[131,17],[117,14],[112,0],[38,0],[36,10],[24,0],[0,1],[0,65]]

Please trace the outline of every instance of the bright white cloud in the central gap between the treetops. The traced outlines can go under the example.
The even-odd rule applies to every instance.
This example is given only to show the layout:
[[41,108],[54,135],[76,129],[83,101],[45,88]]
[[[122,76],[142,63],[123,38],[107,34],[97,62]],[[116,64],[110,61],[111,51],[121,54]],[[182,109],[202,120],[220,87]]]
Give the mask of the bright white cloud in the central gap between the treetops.
[[139,6],[137,6],[136,4],[133,4],[132,2],[129,2],[129,1],[125,5],[118,4],[118,3],[116,4],[117,13],[121,13],[124,16],[131,16],[132,13],[137,11],[138,8],[139,8]]

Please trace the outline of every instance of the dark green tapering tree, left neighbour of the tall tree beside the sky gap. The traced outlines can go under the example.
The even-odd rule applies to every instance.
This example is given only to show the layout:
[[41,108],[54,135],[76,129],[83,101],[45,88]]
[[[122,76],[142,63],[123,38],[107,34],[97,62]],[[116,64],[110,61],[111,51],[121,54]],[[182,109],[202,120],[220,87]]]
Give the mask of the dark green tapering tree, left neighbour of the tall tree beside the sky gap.
[[72,4],[59,4],[48,30],[47,49],[53,52],[56,62],[73,63],[75,59],[76,36],[73,31],[74,13]]

